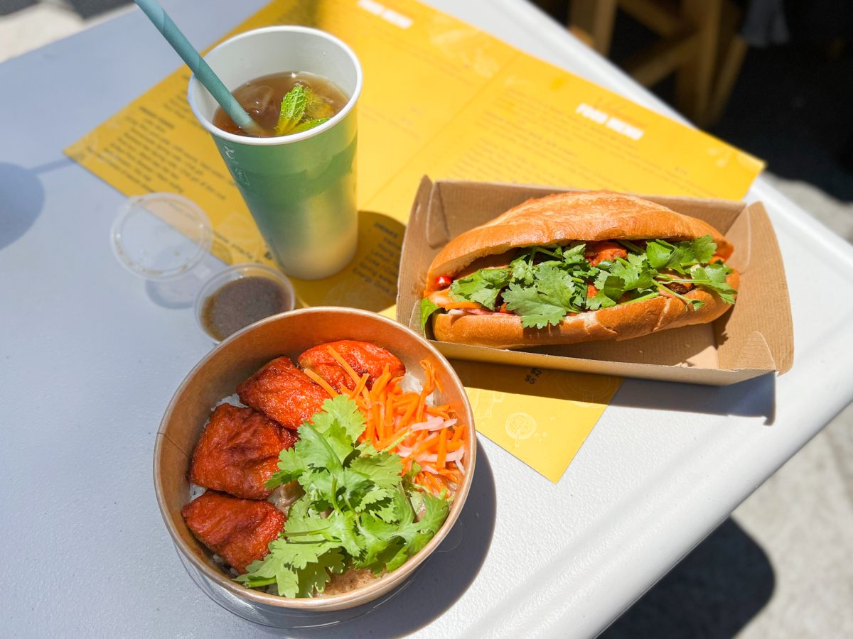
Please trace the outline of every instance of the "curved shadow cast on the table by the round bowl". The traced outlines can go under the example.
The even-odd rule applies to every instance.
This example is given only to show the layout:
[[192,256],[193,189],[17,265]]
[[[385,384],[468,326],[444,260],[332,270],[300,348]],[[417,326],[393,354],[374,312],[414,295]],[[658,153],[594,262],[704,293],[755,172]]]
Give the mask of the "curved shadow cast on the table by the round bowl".
[[[456,525],[394,596],[352,619],[314,628],[262,628],[269,636],[403,636],[440,617],[477,578],[495,530],[495,477],[481,446],[471,492]],[[350,611],[352,612],[352,611]],[[347,611],[341,611],[342,616]]]

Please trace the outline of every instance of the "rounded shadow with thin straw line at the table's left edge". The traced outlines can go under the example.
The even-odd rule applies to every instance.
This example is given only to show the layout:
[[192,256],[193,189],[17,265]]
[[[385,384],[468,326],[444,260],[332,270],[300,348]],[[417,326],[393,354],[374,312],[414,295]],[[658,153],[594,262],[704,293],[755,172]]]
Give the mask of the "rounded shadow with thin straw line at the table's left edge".
[[0,249],[20,239],[41,214],[44,187],[39,174],[69,162],[57,160],[35,169],[0,162]]

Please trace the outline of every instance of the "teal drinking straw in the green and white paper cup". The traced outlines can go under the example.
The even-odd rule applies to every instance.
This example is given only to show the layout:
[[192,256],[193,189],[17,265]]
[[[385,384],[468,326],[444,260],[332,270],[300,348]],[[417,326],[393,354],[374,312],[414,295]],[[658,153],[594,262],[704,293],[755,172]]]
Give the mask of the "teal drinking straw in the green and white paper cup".
[[213,99],[218,101],[219,106],[223,107],[229,118],[247,133],[261,135],[262,131],[258,123],[240,106],[240,102],[235,100],[234,95],[231,95],[231,92],[225,87],[218,75],[213,72],[210,65],[206,63],[205,59],[189,43],[187,37],[171,21],[169,14],[163,10],[160,3],[157,0],[134,0],[134,2],[165,37],[166,42],[171,44],[171,48],[175,49],[177,55],[180,55],[181,59],[187,63],[189,70],[195,74],[199,82],[210,91]]

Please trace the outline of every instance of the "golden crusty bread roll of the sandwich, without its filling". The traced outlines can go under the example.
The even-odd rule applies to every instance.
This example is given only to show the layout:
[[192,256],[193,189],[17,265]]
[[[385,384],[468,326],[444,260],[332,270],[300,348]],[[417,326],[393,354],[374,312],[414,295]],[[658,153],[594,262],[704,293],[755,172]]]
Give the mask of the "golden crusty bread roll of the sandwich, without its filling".
[[[561,245],[576,239],[685,241],[708,234],[717,243],[717,255],[728,259],[734,250],[728,239],[696,218],[619,193],[558,193],[528,200],[452,239],[432,260],[424,295],[436,291],[435,281],[439,275],[455,276],[472,262],[508,250]],[[737,289],[740,283],[737,271],[730,273],[727,281]],[[522,328],[521,318],[514,314],[457,311],[433,315],[432,329],[442,342],[523,348],[641,337],[668,328],[711,322],[731,308],[718,296],[702,289],[689,291],[687,297],[705,304],[690,310],[675,296],[661,296],[569,316],[560,325],[543,329]]]

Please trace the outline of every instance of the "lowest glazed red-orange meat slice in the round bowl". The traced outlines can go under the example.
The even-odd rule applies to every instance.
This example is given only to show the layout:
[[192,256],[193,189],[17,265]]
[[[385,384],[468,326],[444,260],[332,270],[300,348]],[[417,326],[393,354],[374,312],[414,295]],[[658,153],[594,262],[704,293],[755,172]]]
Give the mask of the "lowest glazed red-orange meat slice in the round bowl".
[[181,510],[196,538],[239,573],[269,552],[287,517],[270,502],[205,491]]

